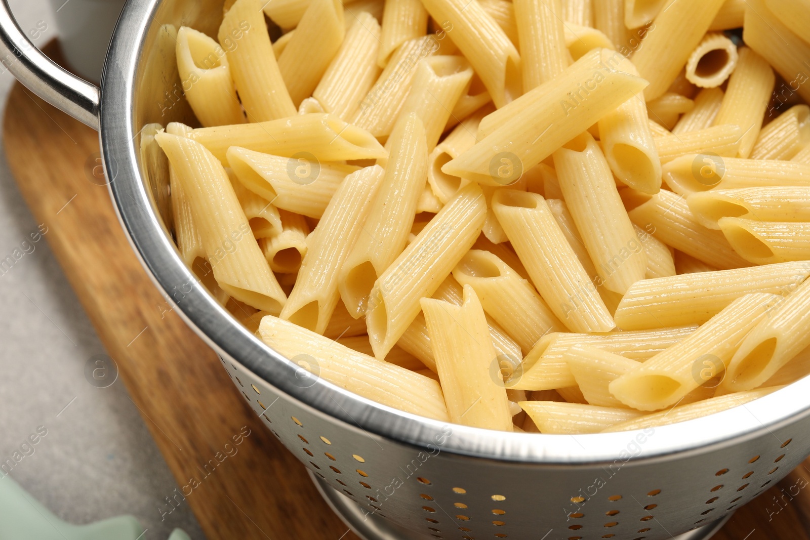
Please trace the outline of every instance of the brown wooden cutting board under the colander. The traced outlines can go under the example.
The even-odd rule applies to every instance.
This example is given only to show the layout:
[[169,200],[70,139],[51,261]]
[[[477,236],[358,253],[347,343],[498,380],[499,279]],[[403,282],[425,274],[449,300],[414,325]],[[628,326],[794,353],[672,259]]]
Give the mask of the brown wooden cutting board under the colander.
[[[47,52],[47,49],[46,49]],[[178,485],[247,426],[240,452],[187,502],[211,540],[357,540],[262,426],[220,360],[151,283],[100,178],[98,135],[16,84],[3,122],[19,190],[115,359]],[[95,169],[95,170],[94,170]],[[807,466],[808,468],[805,468]],[[810,465],[740,508],[719,540],[810,540]]]

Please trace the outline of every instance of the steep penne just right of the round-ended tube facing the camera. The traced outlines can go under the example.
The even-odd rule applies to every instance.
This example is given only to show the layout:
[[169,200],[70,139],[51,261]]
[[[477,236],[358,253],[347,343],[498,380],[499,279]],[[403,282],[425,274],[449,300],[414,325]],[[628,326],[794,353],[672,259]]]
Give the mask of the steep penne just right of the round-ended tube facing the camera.
[[741,158],[751,155],[757,142],[774,81],[774,70],[768,62],[748,47],[740,49],[739,62],[728,80],[714,125],[734,124],[743,130],[737,151]]

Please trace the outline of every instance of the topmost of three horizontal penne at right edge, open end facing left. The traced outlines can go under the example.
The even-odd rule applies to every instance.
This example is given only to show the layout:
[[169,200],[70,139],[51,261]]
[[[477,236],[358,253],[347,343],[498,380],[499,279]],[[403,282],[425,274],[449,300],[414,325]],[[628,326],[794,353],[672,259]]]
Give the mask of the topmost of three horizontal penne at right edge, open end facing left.
[[689,154],[663,165],[663,181],[689,195],[708,189],[810,186],[810,164]]

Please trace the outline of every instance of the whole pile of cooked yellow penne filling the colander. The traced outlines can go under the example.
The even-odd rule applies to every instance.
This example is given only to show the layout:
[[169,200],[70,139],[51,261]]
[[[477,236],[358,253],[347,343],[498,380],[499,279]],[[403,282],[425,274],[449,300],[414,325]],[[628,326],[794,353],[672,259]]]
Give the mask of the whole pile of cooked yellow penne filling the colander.
[[173,34],[199,126],[147,138],[181,258],[301,385],[658,426],[810,372],[808,28],[808,0],[229,1]]

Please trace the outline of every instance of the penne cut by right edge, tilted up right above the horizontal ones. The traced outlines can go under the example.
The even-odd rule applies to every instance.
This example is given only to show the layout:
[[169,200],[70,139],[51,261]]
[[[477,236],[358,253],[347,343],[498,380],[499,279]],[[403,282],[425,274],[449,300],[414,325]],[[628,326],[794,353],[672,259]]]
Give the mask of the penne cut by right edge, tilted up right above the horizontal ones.
[[751,159],[791,159],[810,144],[810,107],[795,105],[760,131]]

